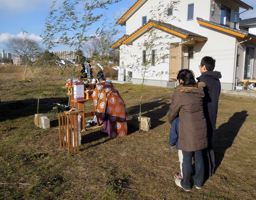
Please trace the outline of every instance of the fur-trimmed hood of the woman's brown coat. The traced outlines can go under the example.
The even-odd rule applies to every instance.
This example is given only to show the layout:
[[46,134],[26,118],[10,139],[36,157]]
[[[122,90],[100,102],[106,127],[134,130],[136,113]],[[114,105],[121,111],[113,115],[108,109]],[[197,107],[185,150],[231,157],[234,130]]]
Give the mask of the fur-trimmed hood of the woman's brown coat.
[[205,83],[199,82],[196,85],[179,85],[178,87],[176,87],[176,90],[182,93],[191,93],[194,96],[202,98],[204,97],[203,87],[205,87]]

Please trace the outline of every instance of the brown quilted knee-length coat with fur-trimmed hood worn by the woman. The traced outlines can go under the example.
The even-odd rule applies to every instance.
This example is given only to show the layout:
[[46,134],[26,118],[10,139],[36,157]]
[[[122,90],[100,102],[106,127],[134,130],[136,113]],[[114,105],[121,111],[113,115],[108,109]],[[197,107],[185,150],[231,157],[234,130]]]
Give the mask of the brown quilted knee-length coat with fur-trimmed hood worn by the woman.
[[203,112],[203,82],[179,85],[169,108],[169,123],[180,116],[179,149],[199,151],[208,146],[206,120]]

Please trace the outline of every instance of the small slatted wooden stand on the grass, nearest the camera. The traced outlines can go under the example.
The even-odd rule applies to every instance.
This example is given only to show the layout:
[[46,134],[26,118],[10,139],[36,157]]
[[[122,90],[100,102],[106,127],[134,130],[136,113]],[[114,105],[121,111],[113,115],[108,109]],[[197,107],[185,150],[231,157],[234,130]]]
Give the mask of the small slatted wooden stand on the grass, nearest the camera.
[[71,108],[59,114],[59,146],[68,148],[68,153],[79,152],[78,115],[82,110]]

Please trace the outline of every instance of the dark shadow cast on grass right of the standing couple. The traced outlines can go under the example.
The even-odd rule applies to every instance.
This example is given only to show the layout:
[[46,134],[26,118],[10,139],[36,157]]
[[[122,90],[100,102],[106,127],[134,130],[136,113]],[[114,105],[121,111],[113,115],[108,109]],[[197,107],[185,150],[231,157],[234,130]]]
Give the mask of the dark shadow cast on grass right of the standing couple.
[[215,130],[214,151],[216,168],[221,165],[226,150],[232,146],[234,139],[237,137],[240,128],[248,117],[247,110],[234,113],[227,123],[224,123]]

